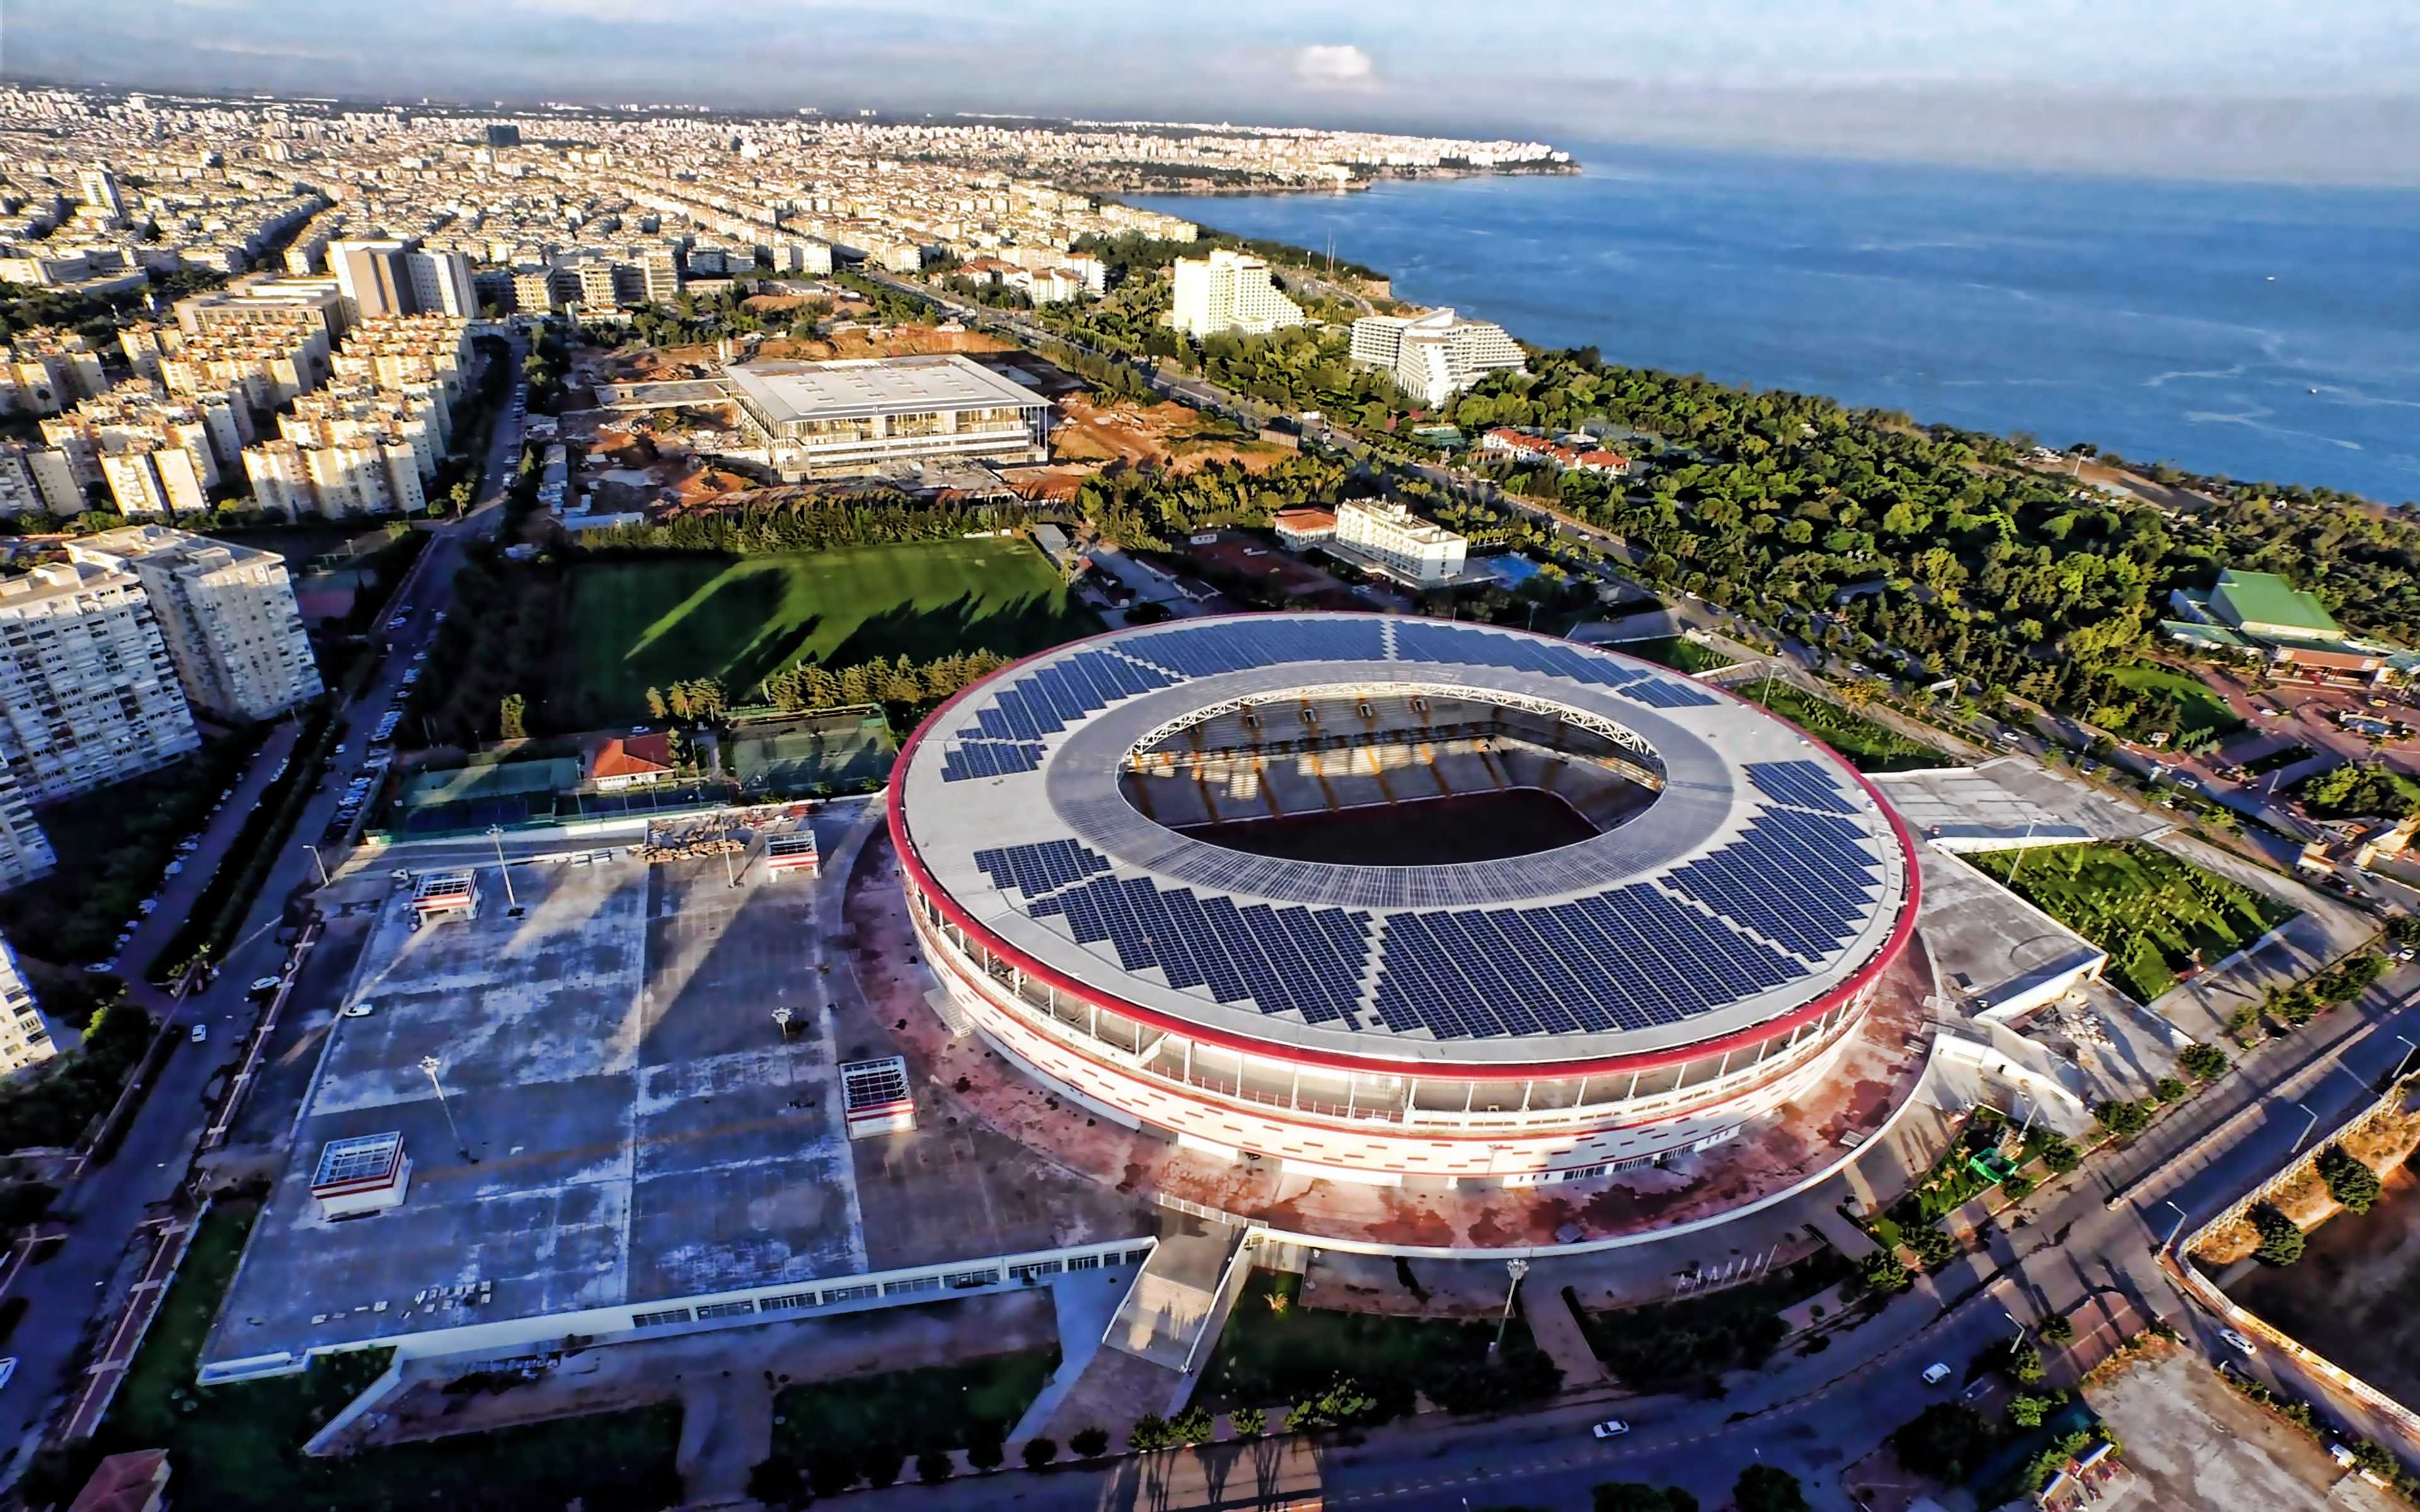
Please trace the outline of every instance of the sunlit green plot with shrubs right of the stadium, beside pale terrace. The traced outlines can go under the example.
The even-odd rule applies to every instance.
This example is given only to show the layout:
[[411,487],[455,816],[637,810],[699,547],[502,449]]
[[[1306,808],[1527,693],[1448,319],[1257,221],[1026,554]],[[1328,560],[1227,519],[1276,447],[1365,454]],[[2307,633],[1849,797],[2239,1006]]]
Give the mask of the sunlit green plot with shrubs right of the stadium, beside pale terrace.
[[2110,953],[2110,980],[2151,1002],[2195,963],[2214,965],[2294,910],[2149,844],[2052,844],[1970,856],[1984,873]]

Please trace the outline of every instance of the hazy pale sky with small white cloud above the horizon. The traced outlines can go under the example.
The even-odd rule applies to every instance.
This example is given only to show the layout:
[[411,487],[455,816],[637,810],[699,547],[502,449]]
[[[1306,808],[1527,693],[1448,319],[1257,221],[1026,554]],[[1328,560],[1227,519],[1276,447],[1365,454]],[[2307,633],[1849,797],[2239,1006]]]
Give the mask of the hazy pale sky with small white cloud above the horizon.
[[2410,17],[2413,0],[0,0],[0,73],[2420,181]]

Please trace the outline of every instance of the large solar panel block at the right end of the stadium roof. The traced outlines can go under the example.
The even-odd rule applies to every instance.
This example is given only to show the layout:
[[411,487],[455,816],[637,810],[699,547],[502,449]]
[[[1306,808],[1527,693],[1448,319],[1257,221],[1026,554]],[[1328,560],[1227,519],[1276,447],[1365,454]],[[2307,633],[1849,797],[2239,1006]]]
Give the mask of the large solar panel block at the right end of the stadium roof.
[[1665,885],[1805,960],[1822,960],[1873,910],[1883,864],[1861,835],[1844,818],[1769,808],[1740,839],[1677,866]]

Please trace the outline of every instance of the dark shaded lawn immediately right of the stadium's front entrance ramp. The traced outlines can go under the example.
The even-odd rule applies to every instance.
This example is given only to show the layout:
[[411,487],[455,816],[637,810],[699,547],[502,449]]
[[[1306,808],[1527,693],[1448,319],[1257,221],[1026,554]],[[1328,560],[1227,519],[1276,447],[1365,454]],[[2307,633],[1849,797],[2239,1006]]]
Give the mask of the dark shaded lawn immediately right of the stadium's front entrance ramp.
[[[1203,1367],[1195,1403],[1275,1408],[1314,1396],[1336,1377],[1353,1377],[1382,1398],[1399,1393],[1408,1410],[1411,1389],[1457,1367],[1488,1357],[1496,1323],[1462,1318],[1387,1318],[1297,1302],[1302,1277],[1256,1270],[1227,1316],[1227,1331]],[[1529,1323],[1517,1314],[1505,1333],[1505,1355],[1527,1355]]]

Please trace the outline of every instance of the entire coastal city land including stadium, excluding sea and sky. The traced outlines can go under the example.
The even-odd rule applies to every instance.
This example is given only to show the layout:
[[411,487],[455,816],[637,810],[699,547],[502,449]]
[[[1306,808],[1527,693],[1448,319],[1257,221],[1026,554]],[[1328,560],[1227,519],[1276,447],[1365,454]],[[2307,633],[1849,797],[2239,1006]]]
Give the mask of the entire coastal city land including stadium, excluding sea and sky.
[[1573,167],[0,87],[7,1495],[2420,1505],[2420,520],[1118,198]]

